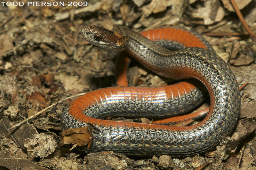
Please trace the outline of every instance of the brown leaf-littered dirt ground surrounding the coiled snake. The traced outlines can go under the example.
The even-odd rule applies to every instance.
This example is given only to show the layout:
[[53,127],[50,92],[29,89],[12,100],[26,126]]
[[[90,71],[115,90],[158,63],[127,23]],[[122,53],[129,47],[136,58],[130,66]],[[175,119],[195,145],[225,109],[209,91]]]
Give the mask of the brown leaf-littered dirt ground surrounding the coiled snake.
[[[24,6],[0,4],[0,169],[256,169],[256,45],[229,0],[91,0],[87,6],[85,1],[80,6],[79,1],[72,1],[72,6],[68,1],[65,6],[20,2]],[[236,2],[255,32],[256,0]],[[10,129],[66,97],[116,85],[117,53],[89,44],[80,33],[85,25],[111,29],[114,24],[137,32],[184,27],[203,35],[231,67],[239,85],[248,83],[241,90],[240,119],[232,135],[193,158],[87,154],[59,146],[60,114],[74,98]],[[172,82],[136,61],[128,76],[130,85]]]

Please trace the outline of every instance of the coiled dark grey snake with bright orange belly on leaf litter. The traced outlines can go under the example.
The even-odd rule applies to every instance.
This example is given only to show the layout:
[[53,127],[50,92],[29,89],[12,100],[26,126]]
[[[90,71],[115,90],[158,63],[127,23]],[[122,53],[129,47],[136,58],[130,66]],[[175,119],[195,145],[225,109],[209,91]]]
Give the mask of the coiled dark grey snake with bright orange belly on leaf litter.
[[[81,32],[88,42],[106,50],[125,51],[160,76],[186,80],[162,87],[108,87],[76,98],[63,109],[61,122],[63,129],[90,129],[92,143],[84,151],[194,156],[214,149],[236,126],[241,101],[235,75],[201,35],[175,27],[137,33],[119,25],[112,30],[90,25]],[[210,110],[195,125],[103,120],[109,116],[157,118],[184,113],[200,103],[196,100],[202,101],[204,91],[210,97]]]

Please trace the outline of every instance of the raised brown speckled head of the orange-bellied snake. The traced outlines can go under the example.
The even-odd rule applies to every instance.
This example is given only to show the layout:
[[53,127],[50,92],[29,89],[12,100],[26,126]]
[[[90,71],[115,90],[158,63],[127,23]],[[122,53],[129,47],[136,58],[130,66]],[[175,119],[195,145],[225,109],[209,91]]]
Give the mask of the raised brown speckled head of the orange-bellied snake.
[[81,32],[89,43],[106,50],[123,51],[129,43],[128,36],[96,25],[83,27]]

